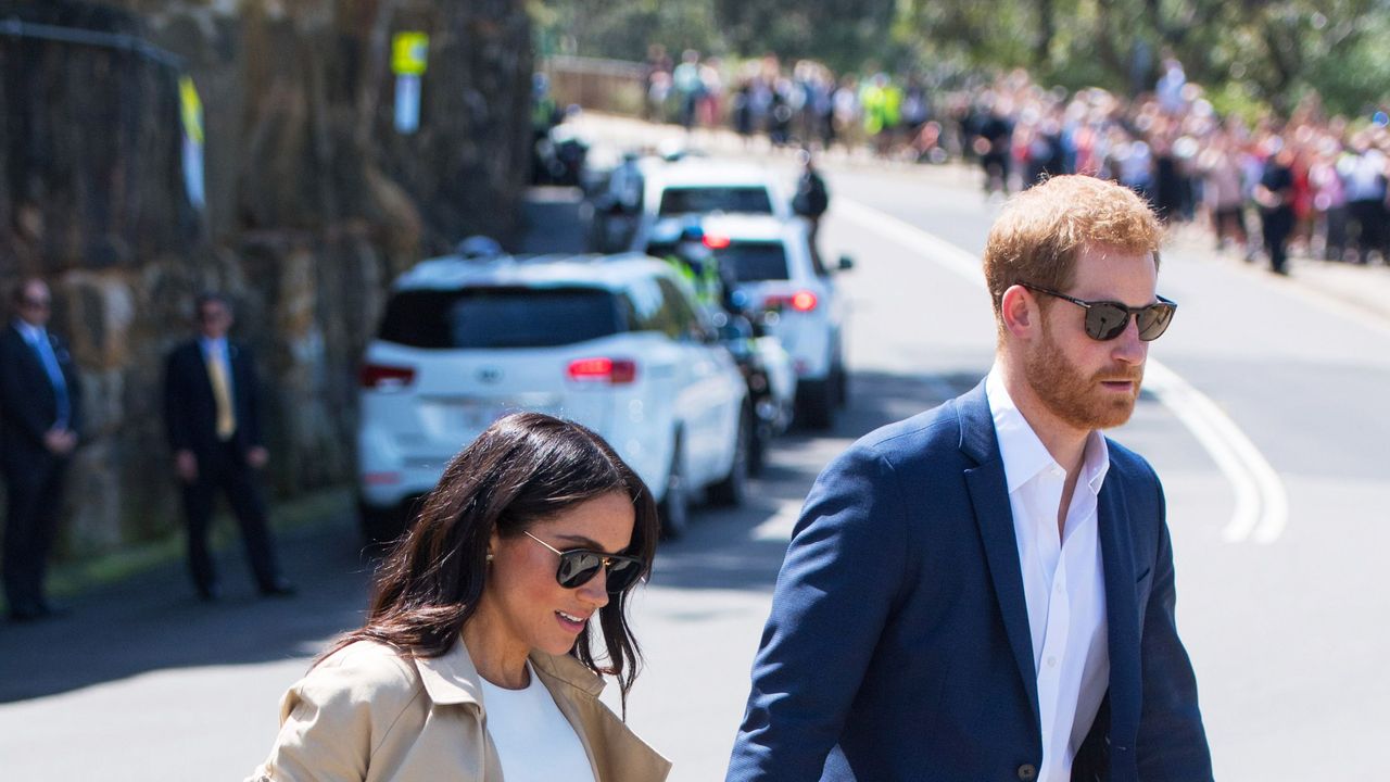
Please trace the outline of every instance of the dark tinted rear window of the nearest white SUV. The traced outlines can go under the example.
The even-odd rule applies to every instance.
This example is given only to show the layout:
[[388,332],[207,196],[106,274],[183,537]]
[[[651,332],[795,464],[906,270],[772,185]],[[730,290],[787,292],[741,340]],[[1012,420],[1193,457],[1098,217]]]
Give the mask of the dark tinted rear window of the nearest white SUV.
[[548,348],[626,331],[612,292],[599,288],[400,291],[381,338],[413,348]]

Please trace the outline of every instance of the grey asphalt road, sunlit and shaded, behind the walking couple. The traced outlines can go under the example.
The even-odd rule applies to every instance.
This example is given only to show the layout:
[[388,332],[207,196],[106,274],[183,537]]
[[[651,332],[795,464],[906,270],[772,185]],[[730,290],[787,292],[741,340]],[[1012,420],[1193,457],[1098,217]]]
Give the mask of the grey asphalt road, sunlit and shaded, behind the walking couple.
[[[787,536],[820,468],[991,363],[992,320],[969,259],[998,205],[958,170],[830,163],[827,179],[824,249],[858,262],[841,277],[853,306],[849,409],[830,433],[780,441],[751,501],[699,513],[635,601],[646,668],[628,721],[676,761],[677,781],[721,778]],[[569,207],[555,195],[535,207],[538,246],[578,237],[556,221]],[[1151,356],[1176,380],[1155,380],[1115,437],[1165,480],[1179,626],[1218,776],[1371,778],[1390,735],[1390,630],[1379,622],[1390,612],[1390,321],[1195,241],[1165,256],[1159,288],[1180,309]],[[284,548],[293,600],[252,597],[228,551],[231,597],[215,607],[196,604],[168,568],[85,596],[67,619],[0,625],[0,779],[249,772],[275,733],[279,694],[360,622],[366,600],[370,564],[346,513]]]

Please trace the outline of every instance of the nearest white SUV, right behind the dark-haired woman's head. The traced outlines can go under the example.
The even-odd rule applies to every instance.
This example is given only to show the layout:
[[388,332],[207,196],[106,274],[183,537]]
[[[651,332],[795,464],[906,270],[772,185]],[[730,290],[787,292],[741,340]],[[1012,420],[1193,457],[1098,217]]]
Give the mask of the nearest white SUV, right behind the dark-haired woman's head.
[[751,412],[733,358],[666,263],[626,256],[427,260],[396,280],[361,366],[359,508],[373,540],[498,417],[598,431],[662,504],[742,501]]

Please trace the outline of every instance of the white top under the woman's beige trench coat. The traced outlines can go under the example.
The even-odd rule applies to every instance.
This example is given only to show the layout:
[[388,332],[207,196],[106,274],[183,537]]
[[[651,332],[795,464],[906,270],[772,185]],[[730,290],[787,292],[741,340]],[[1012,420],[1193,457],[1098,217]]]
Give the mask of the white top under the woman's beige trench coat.
[[507,782],[594,781],[580,735],[527,662],[531,683],[520,690],[482,682],[488,735]]

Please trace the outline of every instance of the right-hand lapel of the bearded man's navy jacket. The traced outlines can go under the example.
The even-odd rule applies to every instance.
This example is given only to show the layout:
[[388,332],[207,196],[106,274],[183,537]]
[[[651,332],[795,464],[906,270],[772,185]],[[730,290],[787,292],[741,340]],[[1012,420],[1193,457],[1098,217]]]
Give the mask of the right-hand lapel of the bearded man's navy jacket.
[[1101,562],[1105,569],[1105,621],[1111,655],[1111,735],[1134,736],[1140,717],[1140,628],[1134,591],[1133,540],[1125,512],[1125,484],[1111,462],[1098,498]]

